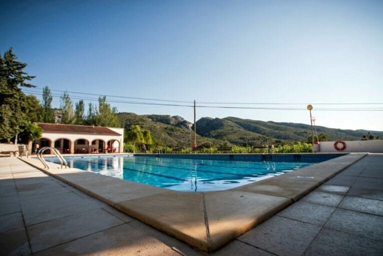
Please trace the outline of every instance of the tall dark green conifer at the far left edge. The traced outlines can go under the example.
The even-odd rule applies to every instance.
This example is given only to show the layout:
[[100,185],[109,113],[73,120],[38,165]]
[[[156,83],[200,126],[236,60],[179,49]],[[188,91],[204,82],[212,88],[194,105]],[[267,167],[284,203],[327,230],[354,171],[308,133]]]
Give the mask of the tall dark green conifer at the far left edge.
[[0,54],[0,139],[7,141],[28,122],[28,100],[19,87],[35,87],[28,83],[34,77],[23,72],[27,64],[16,60],[12,48]]

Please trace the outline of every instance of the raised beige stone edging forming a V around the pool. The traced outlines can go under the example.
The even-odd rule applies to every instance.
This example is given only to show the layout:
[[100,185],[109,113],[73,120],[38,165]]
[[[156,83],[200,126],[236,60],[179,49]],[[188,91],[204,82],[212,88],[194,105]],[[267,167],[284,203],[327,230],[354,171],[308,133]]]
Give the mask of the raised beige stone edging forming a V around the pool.
[[[21,160],[170,236],[201,250],[213,251],[276,214],[365,155],[349,154],[340,156],[318,164],[318,168],[314,168],[315,165],[311,165],[300,170],[269,178],[267,180],[280,183],[279,187],[281,190],[279,194],[275,195],[262,193],[261,191],[256,191],[256,189],[255,191],[242,191],[237,190],[237,188],[204,193],[179,192],[105,177],[74,168],[57,169],[55,167],[50,170],[44,170],[42,169],[42,164],[36,159]],[[79,173],[82,174],[78,176]],[[283,189],[287,188],[287,186],[283,186],[283,180],[287,178],[287,183],[296,182],[301,185],[302,179],[298,177],[307,177],[308,175],[315,177],[315,182],[312,182],[312,179],[309,178],[304,178],[303,180],[311,181],[313,188],[309,186],[307,190],[307,187],[299,188],[297,186],[297,190],[300,189],[302,191],[297,191],[297,194],[294,194],[294,196],[286,195],[285,191],[283,193]],[[97,180],[99,183],[97,183],[96,187],[89,185]],[[123,200],[123,196],[119,198],[113,198],[113,196],[106,198],[108,193],[97,192],[102,191],[103,187],[108,188],[113,183],[125,184],[122,186],[125,186],[127,189],[121,193],[126,193],[126,200]],[[258,186],[256,183],[250,185]],[[150,189],[153,191],[150,193],[146,192],[146,190]],[[142,190],[143,194],[134,196],[134,194]],[[226,204],[222,205],[222,201],[225,201]],[[205,216],[208,216],[208,218],[205,218]],[[205,221],[207,221],[207,225]],[[208,235],[207,227],[209,229]]]

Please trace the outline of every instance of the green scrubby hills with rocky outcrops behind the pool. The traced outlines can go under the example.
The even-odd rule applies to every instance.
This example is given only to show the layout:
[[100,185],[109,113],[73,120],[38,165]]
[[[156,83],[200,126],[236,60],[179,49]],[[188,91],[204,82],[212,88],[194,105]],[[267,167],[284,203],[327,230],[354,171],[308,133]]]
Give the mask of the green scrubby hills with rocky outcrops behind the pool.
[[[139,125],[149,130],[154,143],[171,147],[187,147],[193,141],[193,124],[180,116],[137,115],[118,113],[118,119],[125,128]],[[326,134],[328,140],[359,140],[370,132],[383,138],[383,131],[342,130],[316,126],[318,134]],[[278,123],[257,121],[237,117],[202,117],[196,121],[196,141],[198,145],[240,145],[259,146],[267,142],[274,145],[305,142],[311,134],[311,126],[298,123]]]

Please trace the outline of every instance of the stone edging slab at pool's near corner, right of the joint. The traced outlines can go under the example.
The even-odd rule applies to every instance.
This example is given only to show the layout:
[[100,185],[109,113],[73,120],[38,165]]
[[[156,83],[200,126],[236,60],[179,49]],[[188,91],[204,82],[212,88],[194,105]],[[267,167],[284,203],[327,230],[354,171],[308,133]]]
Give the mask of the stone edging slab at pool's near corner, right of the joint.
[[284,197],[235,190],[206,192],[204,198],[210,250],[221,247],[292,202]]

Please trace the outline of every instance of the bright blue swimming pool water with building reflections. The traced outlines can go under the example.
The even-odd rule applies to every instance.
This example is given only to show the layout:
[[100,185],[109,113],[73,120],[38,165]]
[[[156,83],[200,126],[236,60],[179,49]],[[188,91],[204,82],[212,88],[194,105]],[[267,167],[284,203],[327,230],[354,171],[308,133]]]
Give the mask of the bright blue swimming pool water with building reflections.
[[[65,157],[70,167],[177,191],[249,184],[339,155],[105,155]],[[46,157],[58,163],[57,158]]]

